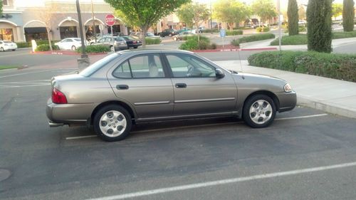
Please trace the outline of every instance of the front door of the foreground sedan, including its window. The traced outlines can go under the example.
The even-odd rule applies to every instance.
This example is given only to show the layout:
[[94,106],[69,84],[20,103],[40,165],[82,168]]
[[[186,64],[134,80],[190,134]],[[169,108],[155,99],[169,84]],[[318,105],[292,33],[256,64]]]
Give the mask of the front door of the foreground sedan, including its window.
[[172,69],[174,115],[234,111],[237,88],[231,74],[216,78],[214,66],[186,53],[166,53]]

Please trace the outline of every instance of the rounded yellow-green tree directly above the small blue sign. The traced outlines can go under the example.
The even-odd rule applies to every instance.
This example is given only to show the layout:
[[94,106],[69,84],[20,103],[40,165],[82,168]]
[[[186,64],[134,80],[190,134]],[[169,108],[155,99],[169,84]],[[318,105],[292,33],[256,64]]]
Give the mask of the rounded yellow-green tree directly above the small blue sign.
[[237,0],[222,0],[214,4],[214,16],[216,19],[226,22],[230,31],[233,30],[234,23],[248,19],[249,15],[248,6]]

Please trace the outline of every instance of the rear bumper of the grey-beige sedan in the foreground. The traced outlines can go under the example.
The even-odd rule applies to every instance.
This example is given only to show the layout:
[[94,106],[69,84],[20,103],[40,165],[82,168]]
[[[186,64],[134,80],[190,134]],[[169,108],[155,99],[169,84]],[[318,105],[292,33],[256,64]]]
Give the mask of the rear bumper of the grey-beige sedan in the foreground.
[[85,124],[90,120],[93,110],[98,104],[56,104],[51,98],[47,101],[46,115],[50,127],[70,124]]

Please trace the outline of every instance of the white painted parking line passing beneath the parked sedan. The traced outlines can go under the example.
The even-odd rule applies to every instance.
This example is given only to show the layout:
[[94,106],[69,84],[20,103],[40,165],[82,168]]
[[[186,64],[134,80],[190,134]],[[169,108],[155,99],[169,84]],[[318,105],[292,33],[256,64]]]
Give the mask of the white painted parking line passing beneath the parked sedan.
[[[305,116],[299,116],[299,117],[284,117],[284,118],[276,118],[275,120],[293,120],[293,119],[300,119],[300,118],[322,117],[325,115],[328,115],[328,114],[324,113],[324,114],[318,114],[318,115],[305,115]],[[178,128],[184,129],[184,128],[194,128],[194,127],[209,127],[209,126],[215,126],[215,125],[233,125],[233,124],[238,124],[238,123],[242,123],[242,121],[214,123],[214,124],[207,124],[207,125],[168,127],[168,128],[160,128],[160,129],[152,129],[152,130],[138,130],[138,131],[133,131],[131,133],[156,132],[156,131],[163,131],[163,130],[177,130]],[[83,139],[83,138],[88,138],[88,137],[97,137],[97,136],[96,135],[84,135],[84,136],[78,136],[78,137],[66,137],[66,140],[78,140],[78,139]]]

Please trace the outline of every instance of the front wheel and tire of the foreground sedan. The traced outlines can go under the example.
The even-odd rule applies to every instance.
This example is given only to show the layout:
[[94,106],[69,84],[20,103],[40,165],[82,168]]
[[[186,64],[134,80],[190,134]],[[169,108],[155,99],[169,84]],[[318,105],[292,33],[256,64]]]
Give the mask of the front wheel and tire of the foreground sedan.
[[253,95],[246,100],[242,117],[250,127],[268,127],[276,117],[275,102],[267,95]]

